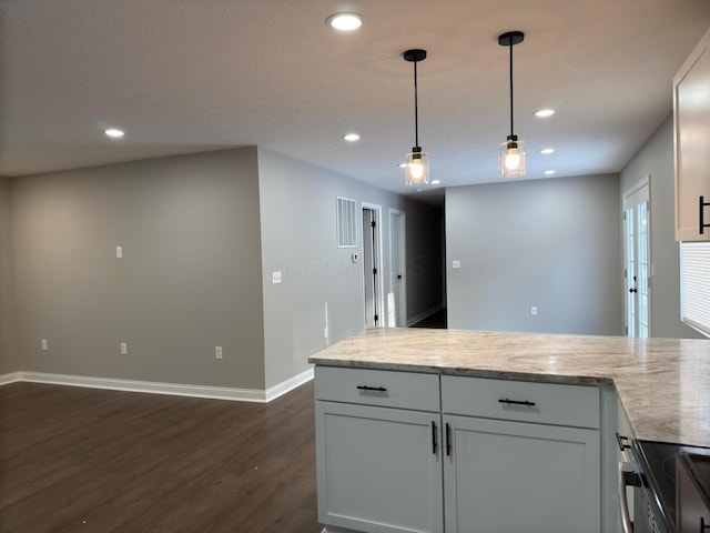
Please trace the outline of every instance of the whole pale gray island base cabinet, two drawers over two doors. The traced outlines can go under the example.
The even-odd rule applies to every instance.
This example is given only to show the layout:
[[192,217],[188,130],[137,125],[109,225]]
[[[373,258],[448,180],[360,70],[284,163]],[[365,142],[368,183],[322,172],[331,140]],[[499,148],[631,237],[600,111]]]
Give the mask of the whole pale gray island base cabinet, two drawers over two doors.
[[316,366],[315,395],[327,532],[601,530],[596,386]]

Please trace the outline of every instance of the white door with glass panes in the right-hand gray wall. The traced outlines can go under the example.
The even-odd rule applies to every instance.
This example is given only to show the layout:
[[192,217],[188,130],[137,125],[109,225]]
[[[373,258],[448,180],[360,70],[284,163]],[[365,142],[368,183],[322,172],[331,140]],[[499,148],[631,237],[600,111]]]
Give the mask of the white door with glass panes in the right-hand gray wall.
[[623,280],[626,334],[651,335],[650,179],[647,175],[623,193]]

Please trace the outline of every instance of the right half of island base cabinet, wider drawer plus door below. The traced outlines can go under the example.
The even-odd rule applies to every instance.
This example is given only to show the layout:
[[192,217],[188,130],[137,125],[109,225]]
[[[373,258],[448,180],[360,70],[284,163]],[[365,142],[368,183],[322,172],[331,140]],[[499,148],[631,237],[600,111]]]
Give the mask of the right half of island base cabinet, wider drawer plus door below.
[[446,533],[599,533],[598,388],[445,375],[442,410]]

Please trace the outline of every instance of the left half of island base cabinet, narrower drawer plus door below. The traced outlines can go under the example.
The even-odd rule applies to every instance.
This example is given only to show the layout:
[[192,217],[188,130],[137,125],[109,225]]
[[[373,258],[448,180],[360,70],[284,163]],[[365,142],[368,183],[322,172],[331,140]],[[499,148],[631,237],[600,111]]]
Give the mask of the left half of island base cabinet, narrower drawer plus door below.
[[438,375],[316,368],[318,520],[367,533],[442,533],[439,411]]

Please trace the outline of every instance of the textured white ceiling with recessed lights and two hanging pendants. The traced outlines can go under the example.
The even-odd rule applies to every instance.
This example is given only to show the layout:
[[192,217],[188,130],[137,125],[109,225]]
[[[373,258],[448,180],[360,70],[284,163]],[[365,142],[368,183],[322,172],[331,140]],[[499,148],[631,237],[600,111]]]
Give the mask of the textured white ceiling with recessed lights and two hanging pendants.
[[[325,19],[361,13],[337,33]],[[399,193],[419,141],[443,187],[620,171],[671,111],[709,0],[0,0],[0,175],[260,145]],[[549,119],[532,115],[551,107]],[[109,140],[106,127],[126,134]],[[355,131],[357,143],[342,135]],[[552,155],[538,150],[555,147]],[[425,193],[419,193],[424,199]]]

